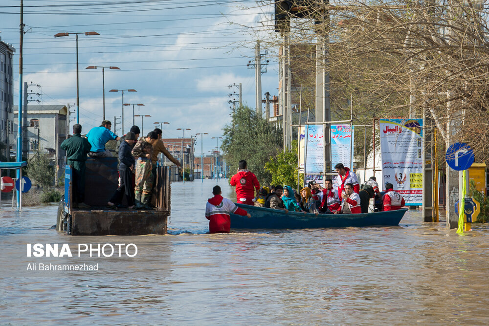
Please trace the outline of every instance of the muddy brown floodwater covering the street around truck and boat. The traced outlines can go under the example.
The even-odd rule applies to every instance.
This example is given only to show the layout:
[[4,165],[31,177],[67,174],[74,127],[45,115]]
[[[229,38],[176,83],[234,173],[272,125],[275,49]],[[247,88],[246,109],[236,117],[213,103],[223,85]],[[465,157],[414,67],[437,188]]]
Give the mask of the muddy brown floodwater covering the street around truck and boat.
[[[0,324],[489,324],[488,224],[460,237],[408,212],[399,227],[209,235],[215,184],[173,184],[166,236],[69,237],[49,229],[56,206],[3,210]],[[73,257],[26,257],[27,243],[68,243]],[[138,251],[77,257],[80,243]],[[98,271],[27,271],[29,263]]]

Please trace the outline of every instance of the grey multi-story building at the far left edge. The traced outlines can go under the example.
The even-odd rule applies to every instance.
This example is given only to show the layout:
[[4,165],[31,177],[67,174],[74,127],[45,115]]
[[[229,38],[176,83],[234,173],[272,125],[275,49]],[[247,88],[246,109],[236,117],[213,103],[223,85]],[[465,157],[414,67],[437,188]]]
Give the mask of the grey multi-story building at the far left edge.
[[10,149],[15,148],[15,136],[12,106],[14,103],[13,92],[13,57],[15,48],[1,41],[0,38],[0,142],[8,144],[5,156],[10,156]]

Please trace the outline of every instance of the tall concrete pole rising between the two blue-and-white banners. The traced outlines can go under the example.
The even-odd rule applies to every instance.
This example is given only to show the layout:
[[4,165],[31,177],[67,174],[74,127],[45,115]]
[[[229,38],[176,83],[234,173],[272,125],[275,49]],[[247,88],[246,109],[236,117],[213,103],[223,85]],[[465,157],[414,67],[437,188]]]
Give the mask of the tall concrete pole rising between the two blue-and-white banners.
[[[323,7],[329,4],[329,0],[322,0]],[[329,52],[329,11],[320,10],[320,23],[323,29],[318,29],[316,41],[316,122],[331,121],[330,106],[330,72],[328,70]],[[331,166],[331,125],[323,123],[324,139],[324,173],[332,172]]]

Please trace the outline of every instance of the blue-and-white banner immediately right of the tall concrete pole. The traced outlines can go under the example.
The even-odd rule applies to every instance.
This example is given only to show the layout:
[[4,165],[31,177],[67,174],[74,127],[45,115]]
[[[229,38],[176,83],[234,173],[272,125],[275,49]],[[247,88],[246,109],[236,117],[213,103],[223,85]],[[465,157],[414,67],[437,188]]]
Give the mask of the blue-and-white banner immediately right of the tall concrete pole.
[[352,169],[353,165],[353,144],[355,136],[355,126],[350,125],[331,125],[331,168],[343,163],[345,167]]

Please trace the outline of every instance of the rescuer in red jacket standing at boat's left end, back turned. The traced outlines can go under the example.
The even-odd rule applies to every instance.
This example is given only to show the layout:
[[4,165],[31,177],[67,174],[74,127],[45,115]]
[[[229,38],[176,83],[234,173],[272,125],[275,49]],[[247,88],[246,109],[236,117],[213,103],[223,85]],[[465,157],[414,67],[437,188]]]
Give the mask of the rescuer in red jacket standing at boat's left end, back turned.
[[255,206],[256,195],[260,193],[260,183],[256,175],[247,170],[245,160],[239,162],[239,169],[231,178],[231,186],[236,187],[236,199],[240,204]]

